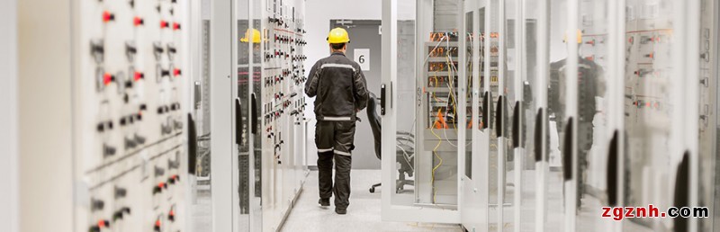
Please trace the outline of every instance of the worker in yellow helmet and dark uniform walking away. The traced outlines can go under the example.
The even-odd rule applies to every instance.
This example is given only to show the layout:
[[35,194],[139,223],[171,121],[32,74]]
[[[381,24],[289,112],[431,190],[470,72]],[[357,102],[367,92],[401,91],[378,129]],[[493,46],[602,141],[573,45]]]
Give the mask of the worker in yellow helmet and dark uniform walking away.
[[[311,68],[305,94],[315,97],[315,145],[318,147],[320,207],[330,206],[335,193],[335,212],[346,214],[350,204],[350,166],[355,148],[356,113],[365,109],[368,93],[360,66],[345,56],[350,38],[335,28],[328,35],[330,52]],[[335,160],[335,184],[332,180]]]

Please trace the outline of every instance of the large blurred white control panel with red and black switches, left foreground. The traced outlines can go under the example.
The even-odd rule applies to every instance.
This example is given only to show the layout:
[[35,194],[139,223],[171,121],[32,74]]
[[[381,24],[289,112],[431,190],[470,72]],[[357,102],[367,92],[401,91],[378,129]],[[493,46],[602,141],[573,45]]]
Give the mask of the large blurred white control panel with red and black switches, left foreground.
[[185,230],[186,2],[74,5],[76,231]]

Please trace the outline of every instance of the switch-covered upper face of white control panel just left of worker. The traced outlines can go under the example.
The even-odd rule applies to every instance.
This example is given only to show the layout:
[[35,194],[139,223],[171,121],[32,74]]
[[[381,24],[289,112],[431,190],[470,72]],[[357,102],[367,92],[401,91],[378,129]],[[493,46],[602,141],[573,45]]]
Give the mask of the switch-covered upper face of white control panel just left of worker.
[[[272,147],[274,163],[283,164],[283,153],[288,153],[285,141],[291,140],[290,125],[299,123],[305,112],[304,61],[302,49],[307,44],[304,22],[300,11],[282,1],[267,5],[266,26],[263,29],[262,70],[262,129],[266,135],[263,147]],[[285,130],[285,131],[284,131]]]

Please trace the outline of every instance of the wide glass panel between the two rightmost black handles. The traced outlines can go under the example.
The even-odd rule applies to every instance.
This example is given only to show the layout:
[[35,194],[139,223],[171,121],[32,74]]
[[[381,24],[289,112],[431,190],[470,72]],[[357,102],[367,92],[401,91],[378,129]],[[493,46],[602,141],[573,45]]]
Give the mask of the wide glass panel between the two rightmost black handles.
[[[673,56],[673,1],[626,1],[626,196],[628,206],[673,205],[676,165],[669,144],[673,123],[671,76]],[[679,97],[679,96],[675,96]],[[677,159],[677,157],[674,157]],[[675,163],[675,162],[673,162]],[[634,218],[623,221],[626,230],[671,229],[671,219]]]

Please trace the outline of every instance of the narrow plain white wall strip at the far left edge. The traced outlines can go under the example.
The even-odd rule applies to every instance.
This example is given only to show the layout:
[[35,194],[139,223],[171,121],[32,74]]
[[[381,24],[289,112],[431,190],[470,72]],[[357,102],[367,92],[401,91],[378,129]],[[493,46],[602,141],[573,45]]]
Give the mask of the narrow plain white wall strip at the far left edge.
[[0,1],[0,231],[18,232],[17,1]]

